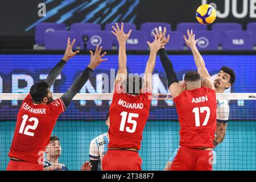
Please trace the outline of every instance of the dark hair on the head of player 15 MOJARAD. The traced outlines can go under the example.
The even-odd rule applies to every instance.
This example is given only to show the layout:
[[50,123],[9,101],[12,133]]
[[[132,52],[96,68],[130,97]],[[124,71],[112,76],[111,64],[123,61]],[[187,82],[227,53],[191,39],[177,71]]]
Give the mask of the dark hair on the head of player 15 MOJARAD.
[[[125,84],[126,84],[126,93],[138,95],[139,90],[141,90],[142,88],[142,78],[136,75],[128,76]],[[131,90],[131,88],[133,89]]]

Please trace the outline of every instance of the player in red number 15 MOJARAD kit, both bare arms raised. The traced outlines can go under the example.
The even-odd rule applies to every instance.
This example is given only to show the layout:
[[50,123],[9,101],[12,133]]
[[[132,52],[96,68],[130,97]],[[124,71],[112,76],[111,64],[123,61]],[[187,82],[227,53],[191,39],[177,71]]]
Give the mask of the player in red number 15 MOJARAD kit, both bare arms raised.
[[139,171],[142,159],[138,151],[144,126],[150,110],[150,96],[152,94],[152,72],[155,67],[156,53],[165,42],[164,37],[147,42],[150,47],[150,57],[144,72],[143,83],[139,77],[127,77],[126,69],[126,41],[131,34],[123,32],[118,24],[112,27],[112,33],[119,42],[119,68],[115,79],[112,104],[109,109],[110,128],[109,144],[102,167],[106,171]]

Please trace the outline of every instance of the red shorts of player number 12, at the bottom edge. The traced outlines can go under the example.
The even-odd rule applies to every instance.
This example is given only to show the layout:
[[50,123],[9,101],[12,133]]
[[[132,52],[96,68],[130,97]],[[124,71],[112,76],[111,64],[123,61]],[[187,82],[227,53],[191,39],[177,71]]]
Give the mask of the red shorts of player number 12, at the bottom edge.
[[43,164],[28,163],[24,161],[10,160],[7,171],[43,171]]

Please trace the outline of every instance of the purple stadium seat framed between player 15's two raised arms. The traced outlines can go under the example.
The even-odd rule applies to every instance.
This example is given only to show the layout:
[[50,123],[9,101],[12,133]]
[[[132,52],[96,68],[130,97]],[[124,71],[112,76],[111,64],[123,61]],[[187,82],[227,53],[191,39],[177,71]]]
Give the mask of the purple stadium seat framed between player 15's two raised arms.
[[148,50],[147,39],[142,31],[133,31],[126,42],[126,50]]

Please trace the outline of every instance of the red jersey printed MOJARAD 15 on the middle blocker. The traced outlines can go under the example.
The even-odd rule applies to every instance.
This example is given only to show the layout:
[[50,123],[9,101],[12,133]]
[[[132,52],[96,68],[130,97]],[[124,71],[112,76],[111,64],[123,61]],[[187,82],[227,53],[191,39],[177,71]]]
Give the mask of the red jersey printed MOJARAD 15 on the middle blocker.
[[123,84],[115,85],[112,104],[109,108],[109,144],[108,148],[141,149],[144,126],[150,111],[151,89],[146,87],[143,93],[132,96],[122,92]]

